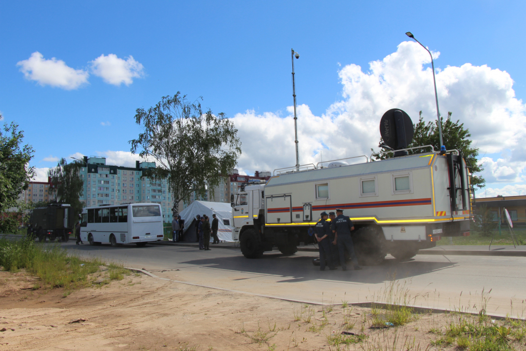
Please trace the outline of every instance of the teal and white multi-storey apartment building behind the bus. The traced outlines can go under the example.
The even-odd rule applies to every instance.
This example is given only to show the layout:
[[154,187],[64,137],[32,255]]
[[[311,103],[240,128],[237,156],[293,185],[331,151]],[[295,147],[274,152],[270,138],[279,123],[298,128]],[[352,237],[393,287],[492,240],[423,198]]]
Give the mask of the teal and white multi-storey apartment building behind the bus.
[[107,165],[105,157],[84,156],[80,168],[84,180],[80,201],[85,206],[120,205],[127,203],[157,203],[165,222],[171,222],[173,197],[166,179],[142,178],[155,162],[136,161],[135,167]]

